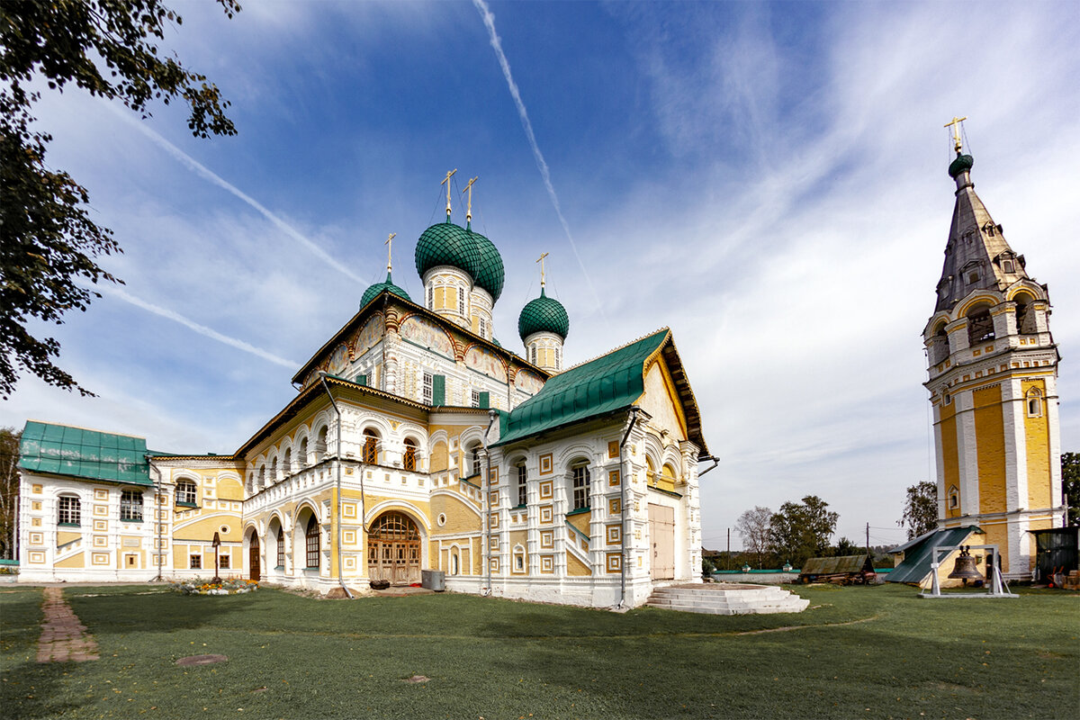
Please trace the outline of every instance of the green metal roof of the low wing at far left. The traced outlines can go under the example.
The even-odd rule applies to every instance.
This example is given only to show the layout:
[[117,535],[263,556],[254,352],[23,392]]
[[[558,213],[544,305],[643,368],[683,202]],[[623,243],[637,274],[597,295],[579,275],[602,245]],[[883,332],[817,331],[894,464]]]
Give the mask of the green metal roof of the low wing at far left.
[[33,473],[152,485],[146,439],[28,420],[18,466]]

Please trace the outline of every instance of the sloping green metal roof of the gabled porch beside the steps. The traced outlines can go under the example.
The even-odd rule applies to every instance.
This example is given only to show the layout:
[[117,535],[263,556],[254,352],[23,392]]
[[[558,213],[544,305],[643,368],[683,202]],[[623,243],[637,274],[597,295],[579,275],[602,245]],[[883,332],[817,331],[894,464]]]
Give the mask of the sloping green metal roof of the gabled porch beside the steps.
[[508,445],[617,410],[629,410],[645,392],[645,363],[670,337],[664,328],[556,375],[534,397],[500,416],[499,441]]

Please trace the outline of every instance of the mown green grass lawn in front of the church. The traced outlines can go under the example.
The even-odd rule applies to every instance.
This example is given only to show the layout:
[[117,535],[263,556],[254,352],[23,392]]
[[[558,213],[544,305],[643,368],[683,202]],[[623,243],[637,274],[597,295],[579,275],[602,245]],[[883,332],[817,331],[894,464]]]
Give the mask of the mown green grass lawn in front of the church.
[[[66,587],[102,658],[39,665],[42,592],[15,587],[0,590],[0,717],[1078,717],[1077,594],[797,592],[806,612],[726,617],[449,594]],[[175,664],[204,653],[229,660]],[[403,681],[414,675],[430,681]]]

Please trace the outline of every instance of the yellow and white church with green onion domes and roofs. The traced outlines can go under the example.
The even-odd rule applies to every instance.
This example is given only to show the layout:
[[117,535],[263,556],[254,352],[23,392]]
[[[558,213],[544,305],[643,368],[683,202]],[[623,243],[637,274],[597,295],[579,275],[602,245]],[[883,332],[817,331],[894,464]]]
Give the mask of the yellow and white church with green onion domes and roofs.
[[423,297],[388,262],[232,454],[28,422],[19,579],[208,578],[216,558],[323,593],[434,569],[450,590],[592,607],[700,582],[712,458],[671,330],[566,367],[569,317],[541,267],[524,354],[501,347],[502,257],[472,229],[472,184],[464,227],[446,184],[446,220],[416,244]]

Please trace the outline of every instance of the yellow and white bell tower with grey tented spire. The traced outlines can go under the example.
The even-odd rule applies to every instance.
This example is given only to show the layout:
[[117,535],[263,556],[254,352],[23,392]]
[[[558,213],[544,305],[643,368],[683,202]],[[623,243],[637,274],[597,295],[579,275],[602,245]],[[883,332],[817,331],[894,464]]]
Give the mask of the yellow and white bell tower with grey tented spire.
[[1062,527],[1059,354],[1050,295],[1027,273],[971,181],[954,118],[956,205],[923,329],[937,459],[937,525],[977,525],[1007,578],[1029,578],[1028,530]]

